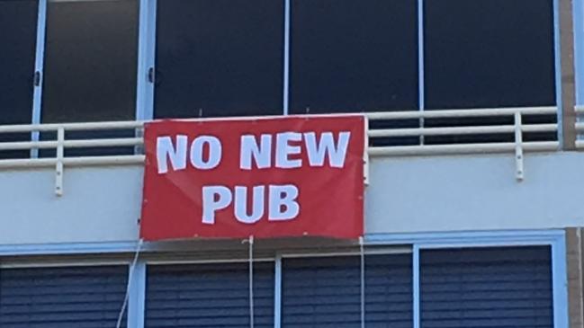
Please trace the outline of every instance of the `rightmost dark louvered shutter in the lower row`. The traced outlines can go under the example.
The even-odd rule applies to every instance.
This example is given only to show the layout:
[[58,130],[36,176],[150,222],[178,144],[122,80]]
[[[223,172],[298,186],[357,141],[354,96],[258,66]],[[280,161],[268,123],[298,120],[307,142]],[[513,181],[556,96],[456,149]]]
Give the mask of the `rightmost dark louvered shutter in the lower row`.
[[553,327],[547,246],[420,253],[423,328]]

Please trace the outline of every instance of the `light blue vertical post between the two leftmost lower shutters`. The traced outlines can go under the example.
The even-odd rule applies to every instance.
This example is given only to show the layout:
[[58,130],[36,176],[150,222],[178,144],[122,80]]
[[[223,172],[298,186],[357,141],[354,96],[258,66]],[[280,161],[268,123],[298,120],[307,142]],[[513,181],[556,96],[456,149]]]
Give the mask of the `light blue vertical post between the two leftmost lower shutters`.
[[[129,270],[130,271],[130,270]],[[146,262],[136,262],[132,272],[128,299],[128,327],[144,327],[146,311]]]

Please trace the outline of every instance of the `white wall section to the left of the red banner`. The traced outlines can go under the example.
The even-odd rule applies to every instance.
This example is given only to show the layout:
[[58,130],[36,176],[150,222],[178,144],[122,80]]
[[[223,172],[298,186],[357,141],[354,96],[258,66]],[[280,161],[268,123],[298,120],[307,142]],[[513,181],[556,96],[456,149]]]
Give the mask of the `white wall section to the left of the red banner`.
[[136,240],[141,166],[0,172],[0,244]]

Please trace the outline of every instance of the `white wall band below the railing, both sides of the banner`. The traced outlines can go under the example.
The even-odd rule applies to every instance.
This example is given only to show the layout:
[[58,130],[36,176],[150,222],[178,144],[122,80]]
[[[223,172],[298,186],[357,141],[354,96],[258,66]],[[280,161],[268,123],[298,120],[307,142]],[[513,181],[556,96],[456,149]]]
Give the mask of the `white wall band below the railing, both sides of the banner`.
[[[365,229],[372,233],[584,226],[584,153],[383,157],[371,164]],[[0,244],[94,243],[138,237],[142,168],[0,172]]]

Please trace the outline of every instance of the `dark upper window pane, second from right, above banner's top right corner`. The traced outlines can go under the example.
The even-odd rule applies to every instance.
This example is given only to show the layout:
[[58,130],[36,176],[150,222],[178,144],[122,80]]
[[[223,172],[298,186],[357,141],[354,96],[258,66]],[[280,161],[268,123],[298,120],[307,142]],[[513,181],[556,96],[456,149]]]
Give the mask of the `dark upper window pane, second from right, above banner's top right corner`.
[[416,0],[292,0],[292,113],[418,108]]

